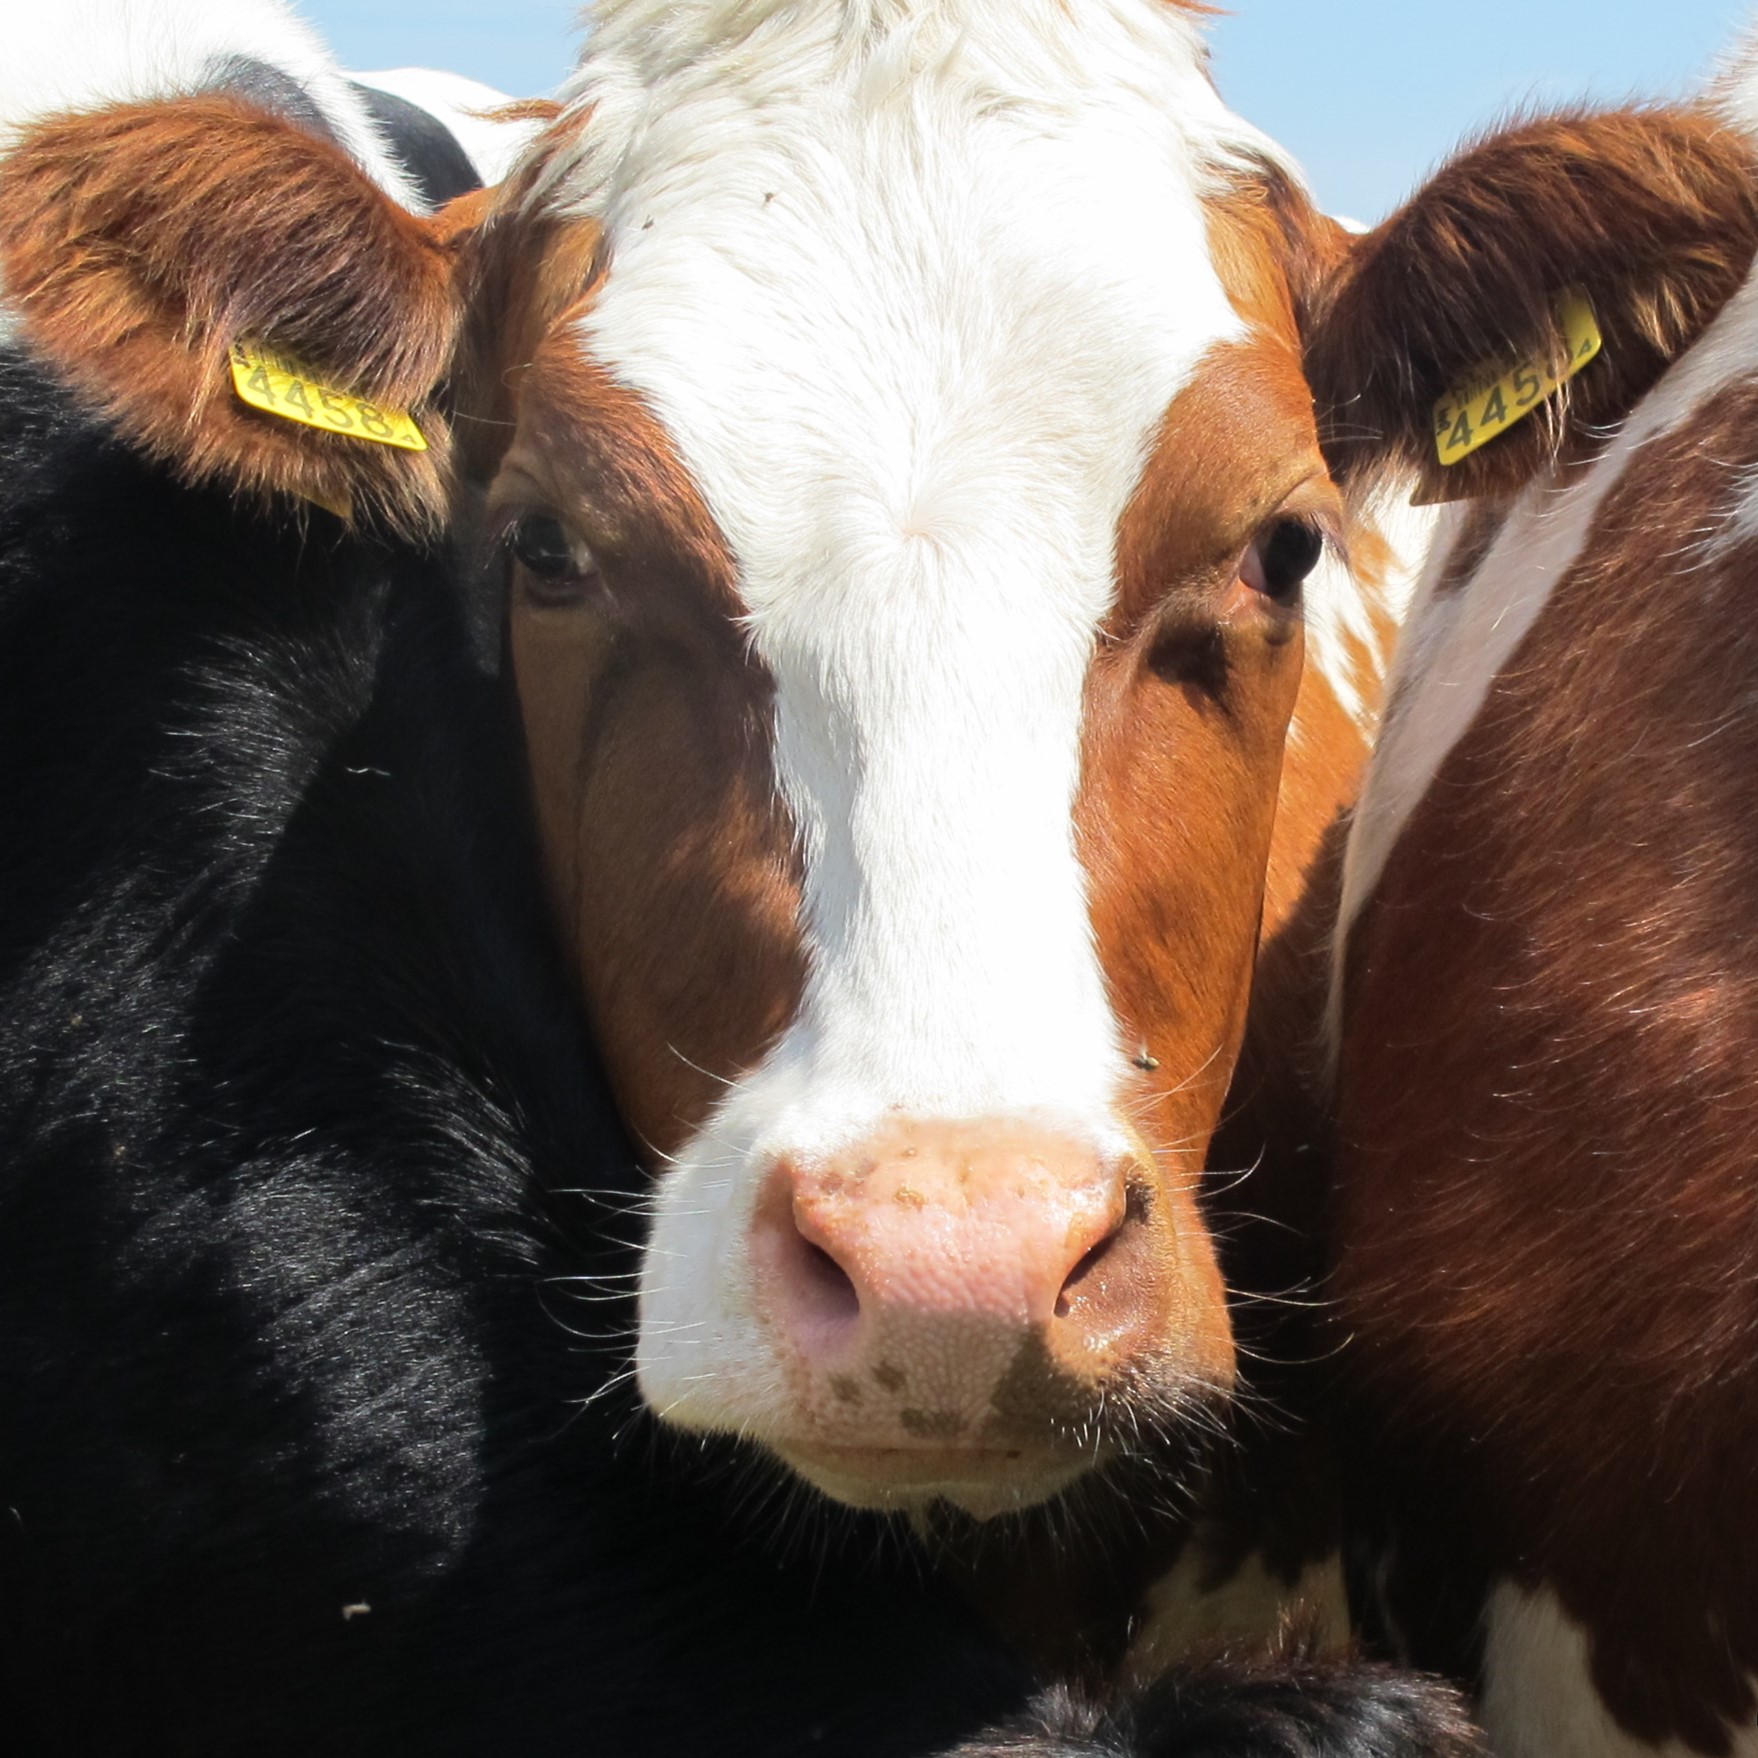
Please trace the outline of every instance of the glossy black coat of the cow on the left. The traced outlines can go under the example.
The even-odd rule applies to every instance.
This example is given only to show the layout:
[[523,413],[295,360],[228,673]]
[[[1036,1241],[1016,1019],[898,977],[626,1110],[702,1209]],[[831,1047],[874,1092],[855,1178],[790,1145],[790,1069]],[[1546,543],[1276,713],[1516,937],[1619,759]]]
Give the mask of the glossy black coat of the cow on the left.
[[1461,1751],[1311,1668],[979,1735],[1032,1681],[897,1533],[638,1412],[480,615],[0,357],[0,1751]]

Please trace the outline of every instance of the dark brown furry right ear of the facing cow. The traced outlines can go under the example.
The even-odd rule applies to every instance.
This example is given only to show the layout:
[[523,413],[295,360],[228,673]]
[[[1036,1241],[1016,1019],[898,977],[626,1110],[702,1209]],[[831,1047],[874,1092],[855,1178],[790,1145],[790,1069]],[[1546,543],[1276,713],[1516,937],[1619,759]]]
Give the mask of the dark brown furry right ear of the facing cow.
[[[1493,135],[1359,239],[1317,302],[1308,369],[1333,469],[1412,469],[1438,499],[1517,487],[1630,413],[1735,294],[1754,248],[1753,142],[1707,113],[1580,113]],[[1582,308],[1600,355],[1442,464],[1452,394],[1491,387],[1487,408],[1498,376],[1565,362],[1565,309],[1587,353]],[[1463,443],[1482,434],[1457,429]]]

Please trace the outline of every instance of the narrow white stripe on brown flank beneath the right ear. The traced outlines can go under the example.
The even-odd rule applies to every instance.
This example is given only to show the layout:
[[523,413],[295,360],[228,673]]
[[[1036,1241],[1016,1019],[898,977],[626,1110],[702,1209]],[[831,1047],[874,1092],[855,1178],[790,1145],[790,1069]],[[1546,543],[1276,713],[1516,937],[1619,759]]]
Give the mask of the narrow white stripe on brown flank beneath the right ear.
[[[1440,592],[1459,526],[1457,510],[1449,508],[1392,666],[1391,707],[1343,861],[1331,976],[1333,1044],[1350,928],[1380,883],[1412,812],[1477,719],[1491,684],[1538,621],[1558,580],[1579,561],[1607,494],[1644,445],[1681,427],[1719,390],[1754,374],[1758,278],[1747,280],[1696,345],[1637,404],[1586,476],[1563,489],[1551,480],[1528,487],[1473,577]],[[1681,541],[1686,536],[1681,533]]]

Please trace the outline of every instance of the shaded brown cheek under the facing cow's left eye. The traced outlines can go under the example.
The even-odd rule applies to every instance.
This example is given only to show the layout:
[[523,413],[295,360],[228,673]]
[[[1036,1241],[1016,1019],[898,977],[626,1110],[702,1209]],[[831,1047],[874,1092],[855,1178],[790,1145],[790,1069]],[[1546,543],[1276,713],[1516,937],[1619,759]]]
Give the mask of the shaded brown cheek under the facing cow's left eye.
[[515,610],[557,926],[638,1144],[673,1153],[793,1018],[793,835],[761,679],[689,643]]

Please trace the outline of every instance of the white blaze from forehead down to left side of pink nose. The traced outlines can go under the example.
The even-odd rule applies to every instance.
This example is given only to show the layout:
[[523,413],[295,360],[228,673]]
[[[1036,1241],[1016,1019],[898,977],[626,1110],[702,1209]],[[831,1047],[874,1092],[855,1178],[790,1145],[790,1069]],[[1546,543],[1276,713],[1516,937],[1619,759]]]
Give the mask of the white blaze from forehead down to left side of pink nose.
[[774,1155],[888,1113],[1123,1148],[1083,684],[1148,447],[1241,332],[1202,165],[1264,146],[1164,0],[1072,11],[607,5],[575,88],[550,200],[610,243],[582,345],[738,557],[805,854],[800,1014],[659,1181],[638,1364],[675,1420],[777,1408],[745,1250]]

